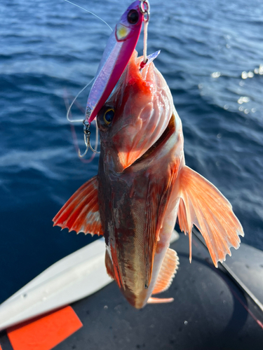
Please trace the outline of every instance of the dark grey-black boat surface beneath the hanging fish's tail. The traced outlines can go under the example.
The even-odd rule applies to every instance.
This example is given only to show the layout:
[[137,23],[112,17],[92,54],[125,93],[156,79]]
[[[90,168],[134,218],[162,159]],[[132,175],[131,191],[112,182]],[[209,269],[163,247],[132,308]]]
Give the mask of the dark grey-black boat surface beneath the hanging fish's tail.
[[[160,297],[170,304],[136,310],[110,283],[72,304],[83,328],[55,346],[55,350],[262,350],[262,312],[220,269],[193,237],[189,263],[188,239],[171,245],[180,258],[172,286]],[[247,311],[249,309],[249,311]],[[3,350],[10,350],[1,333]]]

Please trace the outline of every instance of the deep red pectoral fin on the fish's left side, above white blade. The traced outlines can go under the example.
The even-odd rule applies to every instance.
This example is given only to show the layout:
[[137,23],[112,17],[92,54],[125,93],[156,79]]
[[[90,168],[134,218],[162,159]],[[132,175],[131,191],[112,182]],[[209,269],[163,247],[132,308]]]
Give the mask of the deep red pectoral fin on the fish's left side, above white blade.
[[76,233],[102,235],[98,204],[97,176],[84,183],[53,218],[54,226]]

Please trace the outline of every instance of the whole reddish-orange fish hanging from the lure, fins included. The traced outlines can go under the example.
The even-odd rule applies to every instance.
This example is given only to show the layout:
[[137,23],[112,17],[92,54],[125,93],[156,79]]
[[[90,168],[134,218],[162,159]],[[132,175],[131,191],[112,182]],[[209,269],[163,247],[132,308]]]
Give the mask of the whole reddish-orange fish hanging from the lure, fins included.
[[133,307],[166,290],[178,267],[169,248],[178,217],[200,230],[217,266],[243,229],[215,186],[185,165],[182,123],[166,80],[133,53],[112,97],[97,115],[100,161],[53,219],[69,231],[104,235],[109,276]]

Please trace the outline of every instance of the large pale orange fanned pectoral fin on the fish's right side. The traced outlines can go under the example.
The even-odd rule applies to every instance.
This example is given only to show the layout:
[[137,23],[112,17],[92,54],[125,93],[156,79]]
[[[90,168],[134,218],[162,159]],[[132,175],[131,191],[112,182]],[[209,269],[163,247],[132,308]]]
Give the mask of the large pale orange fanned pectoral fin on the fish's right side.
[[180,204],[178,221],[180,229],[189,234],[191,261],[191,228],[196,225],[217,267],[231,255],[229,248],[238,248],[243,228],[232,211],[229,201],[203,176],[184,166],[180,174]]

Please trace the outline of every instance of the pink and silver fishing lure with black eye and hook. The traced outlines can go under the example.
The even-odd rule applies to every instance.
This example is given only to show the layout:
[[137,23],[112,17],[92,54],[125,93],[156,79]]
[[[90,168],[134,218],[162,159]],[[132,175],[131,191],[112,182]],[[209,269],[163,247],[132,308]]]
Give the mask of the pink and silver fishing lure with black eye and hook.
[[[88,148],[95,152],[90,145],[90,123],[97,116],[112,90],[114,90],[119,78],[121,78],[124,69],[126,69],[139,39],[142,22],[145,25],[149,22],[149,14],[150,7],[147,0],[134,1],[123,13],[111,36],[109,36],[93,86],[88,95],[86,116],[83,120],[86,151],[83,155],[79,152],[81,158],[86,155]],[[146,61],[147,58],[144,55],[144,64],[146,64]]]

